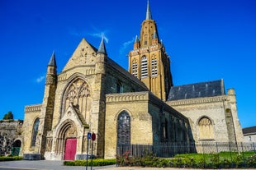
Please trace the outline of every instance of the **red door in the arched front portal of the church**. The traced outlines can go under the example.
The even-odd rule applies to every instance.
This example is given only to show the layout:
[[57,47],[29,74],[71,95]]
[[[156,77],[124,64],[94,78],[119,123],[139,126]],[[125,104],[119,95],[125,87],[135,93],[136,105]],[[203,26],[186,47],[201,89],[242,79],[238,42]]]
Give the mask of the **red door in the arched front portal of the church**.
[[64,160],[74,160],[77,151],[77,139],[69,138],[66,140]]

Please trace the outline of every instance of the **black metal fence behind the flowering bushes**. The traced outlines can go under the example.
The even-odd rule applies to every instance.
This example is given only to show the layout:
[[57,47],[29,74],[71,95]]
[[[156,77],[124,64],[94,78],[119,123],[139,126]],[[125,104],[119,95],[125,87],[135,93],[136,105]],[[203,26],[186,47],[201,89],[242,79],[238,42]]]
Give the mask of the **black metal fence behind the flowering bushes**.
[[216,154],[220,152],[245,152],[256,153],[256,142],[172,142],[154,145],[118,145],[116,155],[121,156],[126,152],[130,156],[141,157],[145,154],[154,154],[157,157],[170,158],[176,154]]

